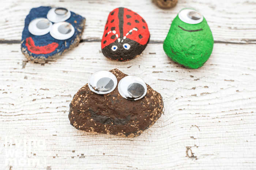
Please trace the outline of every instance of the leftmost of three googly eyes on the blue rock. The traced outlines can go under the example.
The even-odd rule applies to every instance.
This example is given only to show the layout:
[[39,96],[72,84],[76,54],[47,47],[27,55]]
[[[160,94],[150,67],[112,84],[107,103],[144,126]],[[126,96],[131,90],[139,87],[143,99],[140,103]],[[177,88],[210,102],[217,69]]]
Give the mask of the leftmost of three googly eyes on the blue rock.
[[51,28],[52,23],[46,18],[36,18],[29,23],[29,32],[33,35],[45,35]]

